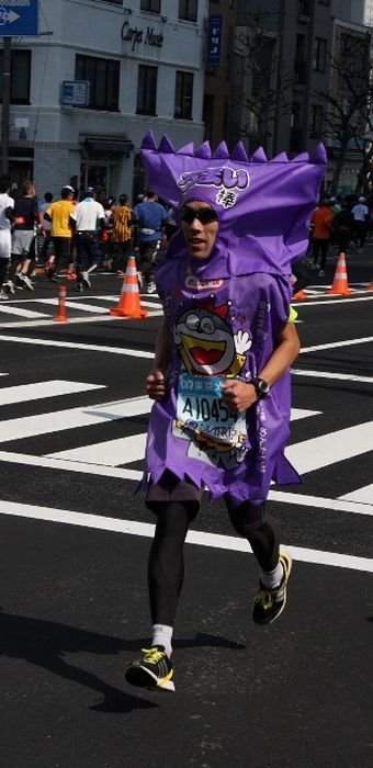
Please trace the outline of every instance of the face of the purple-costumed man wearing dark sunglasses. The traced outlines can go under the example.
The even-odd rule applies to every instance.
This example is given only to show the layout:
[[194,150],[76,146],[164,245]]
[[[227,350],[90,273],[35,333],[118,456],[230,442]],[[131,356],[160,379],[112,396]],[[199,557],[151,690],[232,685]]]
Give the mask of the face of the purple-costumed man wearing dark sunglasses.
[[[214,214],[211,205],[201,200],[185,203],[181,210],[181,227],[187,248],[190,256],[196,259],[208,259],[213,250],[218,229],[217,216]],[[206,221],[211,218],[213,221]]]

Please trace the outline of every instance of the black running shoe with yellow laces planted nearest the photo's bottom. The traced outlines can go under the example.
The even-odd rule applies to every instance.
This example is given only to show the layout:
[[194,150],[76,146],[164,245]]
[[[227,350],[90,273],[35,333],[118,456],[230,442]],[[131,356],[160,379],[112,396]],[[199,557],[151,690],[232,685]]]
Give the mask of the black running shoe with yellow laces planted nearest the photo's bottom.
[[163,645],[152,645],[142,652],[143,657],[131,662],[125,670],[127,682],[139,688],[174,691],[172,662]]

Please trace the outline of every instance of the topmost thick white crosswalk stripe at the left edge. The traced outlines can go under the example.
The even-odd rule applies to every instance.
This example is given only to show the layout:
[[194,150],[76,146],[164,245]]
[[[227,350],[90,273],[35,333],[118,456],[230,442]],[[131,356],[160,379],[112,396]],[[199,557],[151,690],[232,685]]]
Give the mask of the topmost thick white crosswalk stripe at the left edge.
[[[59,380],[38,382],[37,384],[21,384],[20,386],[3,386],[0,388],[0,406],[11,403],[45,399],[59,395],[72,395],[77,392],[105,389],[104,384],[83,384],[81,382],[65,382]],[[1,439],[0,439],[1,441]]]

